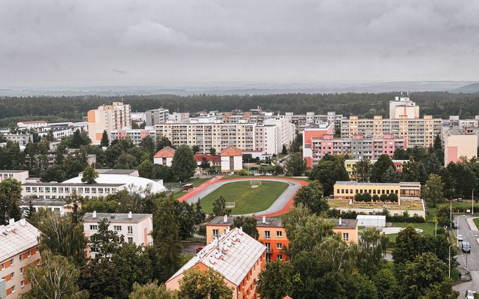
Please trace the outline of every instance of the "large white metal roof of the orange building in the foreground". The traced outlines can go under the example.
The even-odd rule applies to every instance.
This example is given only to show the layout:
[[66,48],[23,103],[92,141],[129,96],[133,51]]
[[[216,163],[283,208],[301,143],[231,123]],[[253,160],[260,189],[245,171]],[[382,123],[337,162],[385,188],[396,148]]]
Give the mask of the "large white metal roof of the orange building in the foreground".
[[[233,241],[236,238],[237,241]],[[190,269],[190,267],[203,263],[220,272],[225,279],[238,286],[249,270],[254,267],[258,258],[265,253],[265,250],[266,247],[263,244],[235,227],[230,232],[220,236],[218,240],[206,245],[169,280]]]

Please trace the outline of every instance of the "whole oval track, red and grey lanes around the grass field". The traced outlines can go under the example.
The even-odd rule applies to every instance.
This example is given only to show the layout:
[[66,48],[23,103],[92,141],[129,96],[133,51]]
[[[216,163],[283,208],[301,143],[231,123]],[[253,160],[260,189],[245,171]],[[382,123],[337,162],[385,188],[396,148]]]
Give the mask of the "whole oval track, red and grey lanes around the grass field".
[[[273,204],[265,209],[264,211],[259,211],[254,213],[257,216],[266,216],[266,217],[274,217],[277,215],[281,215],[284,213],[288,213],[291,206],[293,206],[293,198],[299,188],[306,186],[309,182],[304,180],[296,180],[294,178],[287,178],[287,177],[254,177],[254,178],[231,178],[231,179],[224,179],[222,176],[216,176],[211,180],[204,182],[199,187],[195,188],[194,190],[188,192],[187,194],[183,195],[182,197],[178,198],[178,201],[187,201],[189,204],[195,203],[198,199],[202,199],[206,197],[206,195],[210,194],[214,190],[218,189],[219,187],[228,184],[229,182],[242,182],[242,181],[249,181],[249,180],[270,180],[273,182],[289,182],[291,183],[286,190],[278,197]],[[253,213],[243,214],[243,215],[253,215]]]

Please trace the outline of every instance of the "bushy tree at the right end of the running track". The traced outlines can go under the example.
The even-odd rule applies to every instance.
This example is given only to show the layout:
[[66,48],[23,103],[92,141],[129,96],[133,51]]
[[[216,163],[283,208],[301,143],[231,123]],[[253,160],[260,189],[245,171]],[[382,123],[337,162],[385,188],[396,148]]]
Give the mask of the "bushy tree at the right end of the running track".
[[329,209],[327,199],[324,199],[322,185],[317,180],[301,187],[294,195],[294,206],[302,204],[310,209],[311,213],[322,213]]

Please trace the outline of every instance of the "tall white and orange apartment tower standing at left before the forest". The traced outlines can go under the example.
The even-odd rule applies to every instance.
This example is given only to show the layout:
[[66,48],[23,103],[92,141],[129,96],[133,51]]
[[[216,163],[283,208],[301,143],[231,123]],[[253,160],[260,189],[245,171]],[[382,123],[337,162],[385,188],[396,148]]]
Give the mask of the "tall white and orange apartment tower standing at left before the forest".
[[100,144],[103,131],[110,136],[112,130],[131,128],[131,106],[113,102],[88,111],[88,137],[93,144]]

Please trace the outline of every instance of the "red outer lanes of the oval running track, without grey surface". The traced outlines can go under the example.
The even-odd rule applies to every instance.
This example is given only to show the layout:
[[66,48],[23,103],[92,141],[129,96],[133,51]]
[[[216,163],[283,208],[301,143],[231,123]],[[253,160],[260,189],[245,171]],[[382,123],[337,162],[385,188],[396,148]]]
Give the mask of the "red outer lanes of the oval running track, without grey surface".
[[[227,178],[227,179],[222,180],[222,178],[224,178],[224,175],[217,175],[216,177],[212,178],[211,180],[208,180],[207,182],[204,182],[202,185],[199,185],[195,189],[193,189],[190,192],[188,192],[188,193],[184,194],[183,196],[179,197],[178,201],[187,201],[188,199],[191,199],[192,197],[195,197],[196,194],[198,194],[202,190],[206,189],[206,187],[209,187],[211,185],[216,184],[216,182],[218,182],[218,180],[221,180],[221,182],[225,182],[225,181],[234,182],[234,181],[241,181],[241,180],[245,179],[245,178]],[[284,181],[288,181],[288,182],[296,182],[299,185],[301,185],[301,187],[309,185],[309,182],[306,182],[305,180],[297,180],[295,178],[288,178],[288,177],[260,176],[260,177],[252,177],[251,179],[254,179],[254,178],[267,178],[267,179],[270,179],[270,180],[284,180]],[[296,195],[296,193],[295,193],[295,195]],[[287,204],[285,204],[280,211],[275,211],[273,213],[268,213],[268,214],[264,214],[264,215],[258,214],[256,216],[275,217],[277,215],[282,215],[282,214],[288,213],[289,210],[291,209],[291,206],[293,206],[293,199],[294,199],[294,195],[289,199]]]

